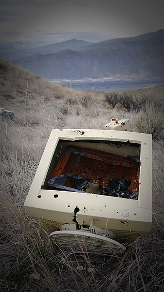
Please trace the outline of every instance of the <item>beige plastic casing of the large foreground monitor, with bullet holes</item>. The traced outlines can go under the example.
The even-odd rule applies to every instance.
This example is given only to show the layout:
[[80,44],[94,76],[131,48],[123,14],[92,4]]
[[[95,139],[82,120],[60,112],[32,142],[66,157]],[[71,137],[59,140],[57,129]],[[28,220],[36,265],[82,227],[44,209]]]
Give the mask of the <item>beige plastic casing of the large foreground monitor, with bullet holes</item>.
[[[121,156],[138,153],[138,147],[111,146],[104,141],[111,144],[129,141],[141,147],[138,200],[46,188],[46,181],[67,145],[84,146]],[[65,230],[69,230],[68,224],[71,224],[70,227],[74,226],[76,207],[79,208],[76,221],[80,226],[90,226],[89,231],[94,226],[92,232],[104,230],[108,236],[107,231],[111,231],[116,238],[149,232],[152,220],[151,145],[152,136],[143,133],[89,129],[52,130],[24,203],[27,214],[40,219],[49,232],[64,229],[63,226],[66,227]]]

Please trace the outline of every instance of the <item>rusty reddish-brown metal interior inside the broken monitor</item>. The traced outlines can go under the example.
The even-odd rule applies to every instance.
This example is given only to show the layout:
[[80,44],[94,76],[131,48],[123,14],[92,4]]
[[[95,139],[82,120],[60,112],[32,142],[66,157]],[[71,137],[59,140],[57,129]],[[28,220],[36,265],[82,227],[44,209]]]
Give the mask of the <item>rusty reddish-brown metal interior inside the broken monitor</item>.
[[[60,157],[51,178],[62,174],[89,177],[91,181],[84,191],[100,194],[111,179],[130,181],[129,192],[139,191],[140,162],[134,159],[79,146],[68,146]],[[96,185],[99,186],[96,188]],[[67,179],[65,186],[75,188]],[[91,188],[91,189],[90,189]]]

